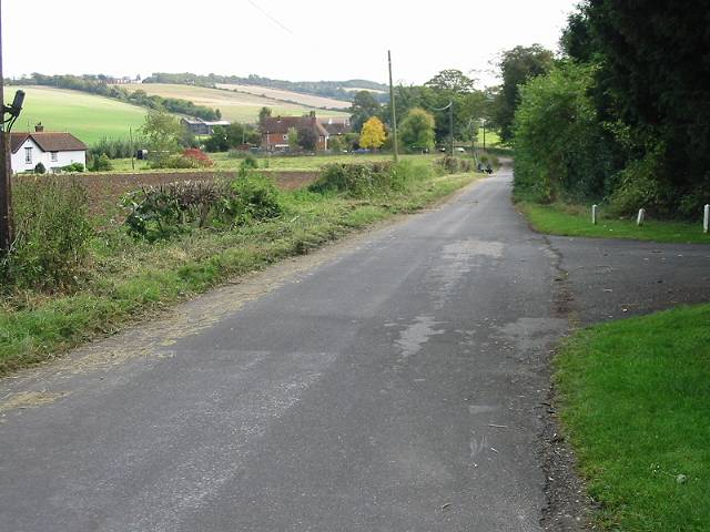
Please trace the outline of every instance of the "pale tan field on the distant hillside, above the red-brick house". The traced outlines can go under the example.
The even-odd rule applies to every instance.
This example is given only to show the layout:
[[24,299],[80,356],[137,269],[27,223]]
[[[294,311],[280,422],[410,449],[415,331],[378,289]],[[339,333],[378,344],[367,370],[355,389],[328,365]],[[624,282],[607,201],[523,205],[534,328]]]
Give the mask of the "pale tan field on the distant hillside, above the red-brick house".
[[[246,94],[234,91],[223,91],[206,86],[179,85],[171,83],[141,83],[121,85],[130,91],[142,90],[148,94],[158,94],[163,98],[179,98],[190,100],[196,105],[217,108],[222,117],[232,122],[254,123],[258,117],[258,110],[263,106],[271,108],[273,115],[300,116],[312,108],[295,103],[280,102],[273,99]],[[320,111],[320,116],[345,116],[346,113],[337,111]]]

